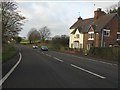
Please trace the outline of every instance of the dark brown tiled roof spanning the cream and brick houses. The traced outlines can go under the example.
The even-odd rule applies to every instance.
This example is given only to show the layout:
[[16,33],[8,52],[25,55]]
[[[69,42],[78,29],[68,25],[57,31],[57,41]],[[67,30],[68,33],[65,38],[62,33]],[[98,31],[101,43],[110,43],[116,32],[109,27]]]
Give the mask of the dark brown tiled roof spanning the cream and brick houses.
[[[78,20],[75,22],[70,29],[76,29],[79,30],[79,32],[88,32],[89,28],[92,27],[95,32],[101,31],[105,27],[105,25],[110,22],[110,20],[117,15],[116,13],[113,14],[106,14],[104,16],[101,16],[99,19],[94,21],[94,18],[84,19],[84,20]],[[74,32],[75,33],[75,32]]]

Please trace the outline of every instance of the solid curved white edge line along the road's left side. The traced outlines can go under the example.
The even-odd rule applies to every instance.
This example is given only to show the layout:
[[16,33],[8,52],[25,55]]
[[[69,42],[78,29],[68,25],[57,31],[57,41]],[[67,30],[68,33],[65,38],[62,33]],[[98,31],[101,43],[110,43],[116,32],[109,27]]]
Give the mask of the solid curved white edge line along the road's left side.
[[20,61],[22,60],[22,54],[19,52],[20,58],[18,62],[11,68],[11,70],[0,80],[0,86],[5,82],[5,80],[10,76],[10,74],[15,70]]

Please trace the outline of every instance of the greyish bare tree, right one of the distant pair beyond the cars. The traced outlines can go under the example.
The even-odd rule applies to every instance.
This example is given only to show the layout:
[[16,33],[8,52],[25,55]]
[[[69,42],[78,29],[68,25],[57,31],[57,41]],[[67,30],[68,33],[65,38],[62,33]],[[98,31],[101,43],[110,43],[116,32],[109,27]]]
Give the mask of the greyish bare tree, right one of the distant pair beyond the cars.
[[41,39],[43,41],[48,39],[50,37],[50,35],[51,35],[51,32],[47,28],[47,26],[44,26],[44,27],[40,28],[39,32],[40,32]]

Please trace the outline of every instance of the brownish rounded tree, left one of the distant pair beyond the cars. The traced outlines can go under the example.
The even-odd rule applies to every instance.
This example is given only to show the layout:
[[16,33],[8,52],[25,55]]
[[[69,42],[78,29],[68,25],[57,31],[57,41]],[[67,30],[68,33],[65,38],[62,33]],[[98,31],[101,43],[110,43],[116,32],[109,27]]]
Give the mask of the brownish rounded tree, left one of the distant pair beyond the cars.
[[35,43],[36,40],[40,40],[40,33],[37,31],[36,28],[32,28],[28,32],[28,40],[30,43]]

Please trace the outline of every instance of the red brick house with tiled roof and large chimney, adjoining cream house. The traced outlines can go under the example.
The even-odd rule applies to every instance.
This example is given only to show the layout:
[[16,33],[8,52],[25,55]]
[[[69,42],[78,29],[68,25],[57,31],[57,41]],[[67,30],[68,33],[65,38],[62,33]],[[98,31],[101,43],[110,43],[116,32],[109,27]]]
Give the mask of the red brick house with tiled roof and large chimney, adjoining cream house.
[[[83,34],[83,48],[112,47],[120,41],[120,17],[117,13],[106,14],[100,8],[94,11],[94,17],[78,18],[70,30],[71,34],[78,30]],[[74,33],[73,33],[74,32]],[[71,39],[71,38],[70,38]],[[74,40],[74,39],[73,39]]]

